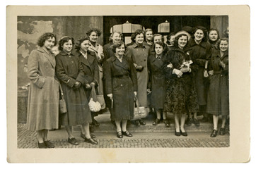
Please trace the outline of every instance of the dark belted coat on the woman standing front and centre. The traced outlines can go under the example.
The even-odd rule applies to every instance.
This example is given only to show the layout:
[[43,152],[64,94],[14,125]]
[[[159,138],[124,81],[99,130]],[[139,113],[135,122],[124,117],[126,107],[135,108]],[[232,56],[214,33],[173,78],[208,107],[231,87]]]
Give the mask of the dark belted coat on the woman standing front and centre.
[[134,92],[137,91],[136,70],[130,58],[108,58],[104,64],[106,94],[113,94],[112,120],[130,120],[134,115]]

